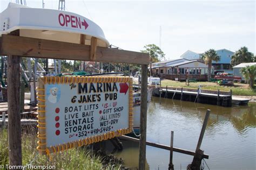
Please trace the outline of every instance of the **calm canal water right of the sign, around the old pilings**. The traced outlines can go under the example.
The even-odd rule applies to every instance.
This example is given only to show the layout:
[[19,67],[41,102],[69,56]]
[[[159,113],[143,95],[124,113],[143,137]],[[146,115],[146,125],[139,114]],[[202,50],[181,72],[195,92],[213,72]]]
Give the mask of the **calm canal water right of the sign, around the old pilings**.
[[[170,146],[171,130],[174,147],[195,151],[206,110],[208,120],[201,150],[210,155],[205,169],[256,169],[256,103],[232,108],[152,97],[147,112],[147,141]],[[124,150],[115,155],[125,165],[138,167],[138,143],[123,141]],[[146,147],[146,168],[167,169],[170,152]],[[173,153],[175,169],[186,169],[193,157]],[[207,167],[207,165],[208,167]]]

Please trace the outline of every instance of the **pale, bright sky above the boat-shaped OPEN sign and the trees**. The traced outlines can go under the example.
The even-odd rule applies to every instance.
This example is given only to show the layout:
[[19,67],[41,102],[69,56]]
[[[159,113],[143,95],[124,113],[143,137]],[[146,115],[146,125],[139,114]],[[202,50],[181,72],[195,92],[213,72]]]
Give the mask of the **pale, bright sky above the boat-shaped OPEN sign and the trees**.
[[[2,12],[11,1],[1,0]],[[15,2],[15,0],[12,0]],[[58,9],[58,0],[44,0]],[[42,8],[42,0],[26,0]],[[166,59],[177,59],[190,49],[237,51],[246,46],[255,53],[255,1],[83,1],[66,0],[66,11],[92,19],[110,44],[140,51],[160,45]]]

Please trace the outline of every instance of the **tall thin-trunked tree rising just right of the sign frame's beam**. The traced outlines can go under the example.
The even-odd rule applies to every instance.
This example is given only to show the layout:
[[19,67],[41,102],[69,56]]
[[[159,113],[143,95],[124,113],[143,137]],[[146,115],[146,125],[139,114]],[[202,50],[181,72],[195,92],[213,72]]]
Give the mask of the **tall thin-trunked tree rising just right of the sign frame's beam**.
[[161,58],[165,58],[165,54],[161,51],[155,44],[148,44],[144,46],[145,50],[141,50],[142,53],[147,53],[150,55],[150,76],[152,75],[152,63],[158,62]]

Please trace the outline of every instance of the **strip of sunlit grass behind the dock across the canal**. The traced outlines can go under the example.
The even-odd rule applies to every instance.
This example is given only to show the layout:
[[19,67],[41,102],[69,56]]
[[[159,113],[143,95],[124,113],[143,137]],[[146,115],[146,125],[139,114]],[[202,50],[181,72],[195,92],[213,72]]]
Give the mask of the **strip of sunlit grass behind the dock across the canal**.
[[223,90],[230,91],[232,89],[233,95],[240,96],[256,96],[256,89],[250,89],[248,84],[234,83],[234,86],[219,86],[217,83],[213,82],[190,82],[190,85],[187,86],[186,82],[179,82],[173,80],[162,80],[161,86],[170,86],[170,87],[186,87],[186,88],[198,88],[199,85],[202,89],[206,90]]

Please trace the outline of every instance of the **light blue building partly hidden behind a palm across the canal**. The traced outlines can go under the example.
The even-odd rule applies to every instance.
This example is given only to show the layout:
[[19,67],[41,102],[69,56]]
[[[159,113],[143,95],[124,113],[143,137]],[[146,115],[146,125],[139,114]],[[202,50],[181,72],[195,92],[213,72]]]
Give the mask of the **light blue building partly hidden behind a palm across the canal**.
[[[228,50],[228,49],[218,49],[216,50],[217,54],[220,56],[220,61],[212,62],[212,66],[214,67],[215,70],[223,70],[223,69],[232,69],[230,61],[231,57],[234,54],[234,52]],[[193,51],[186,51],[184,54],[180,56],[180,58],[184,58],[187,60],[199,60],[201,61],[201,56],[203,55],[203,52],[197,53]]]

